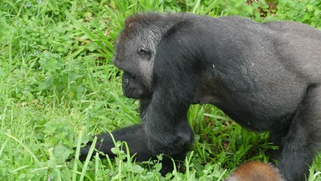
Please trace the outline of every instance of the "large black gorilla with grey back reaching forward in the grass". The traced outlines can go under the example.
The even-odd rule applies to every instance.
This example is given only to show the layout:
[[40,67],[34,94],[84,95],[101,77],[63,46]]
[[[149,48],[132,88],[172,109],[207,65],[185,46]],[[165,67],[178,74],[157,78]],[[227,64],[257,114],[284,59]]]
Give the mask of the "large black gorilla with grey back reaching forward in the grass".
[[[286,180],[307,176],[321,142],[318,29],[237,16],[136,14],[126,19],[112,62],[123,71],[123,94],[141,103],[142,123],[112,132],[136,160],[185,158],[193,142],[189,106],[213,104],[243,128],[270,132],[279,147],[271,158]],[[110,135],[97,137],[103,141],[95,147],[112,156]]]

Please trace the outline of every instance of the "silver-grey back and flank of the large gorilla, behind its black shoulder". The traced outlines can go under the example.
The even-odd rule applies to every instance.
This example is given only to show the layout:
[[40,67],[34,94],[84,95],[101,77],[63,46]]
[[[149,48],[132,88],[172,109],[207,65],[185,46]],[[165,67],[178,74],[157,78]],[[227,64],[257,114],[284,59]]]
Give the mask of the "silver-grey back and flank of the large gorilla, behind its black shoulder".
[[[249,121],[254,130],[279,126],[278,121],[293,116],[307,88],[321,82],[321,32],[315,28],[294,22],[257,23],[239,16],[195,18],[195,26],[205,29],[199,35],[202,42],[213,49],[206,60],[215,69],[209,66],[208,71],[234,95],[221,108],[244,127]],[[228,110],[232,104],[246,106]]]

